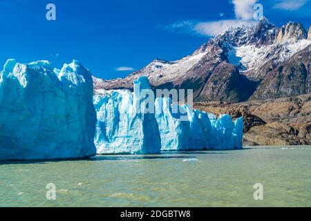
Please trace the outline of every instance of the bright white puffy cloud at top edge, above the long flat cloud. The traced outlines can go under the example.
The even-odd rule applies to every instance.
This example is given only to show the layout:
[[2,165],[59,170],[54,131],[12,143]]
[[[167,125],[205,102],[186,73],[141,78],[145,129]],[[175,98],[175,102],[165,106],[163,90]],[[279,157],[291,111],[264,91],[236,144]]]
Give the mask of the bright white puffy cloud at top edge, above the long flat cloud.
[[253,6],[257,0],[232,0],[236,19],[251,20],[254,15]]

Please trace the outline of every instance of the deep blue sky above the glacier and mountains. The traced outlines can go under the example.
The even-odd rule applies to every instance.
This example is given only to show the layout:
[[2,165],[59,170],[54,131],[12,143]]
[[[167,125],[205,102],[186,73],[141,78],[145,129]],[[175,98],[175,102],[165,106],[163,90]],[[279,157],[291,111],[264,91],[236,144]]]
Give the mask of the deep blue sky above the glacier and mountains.
[[[56,21],[46,20],[48,3]],[[77,59],[97,77],[124,77],[153,59],[190,55],[230,23],[252,22],[254,3],[277,26],[311,25],[310,0],[0,0],[0,65]]]

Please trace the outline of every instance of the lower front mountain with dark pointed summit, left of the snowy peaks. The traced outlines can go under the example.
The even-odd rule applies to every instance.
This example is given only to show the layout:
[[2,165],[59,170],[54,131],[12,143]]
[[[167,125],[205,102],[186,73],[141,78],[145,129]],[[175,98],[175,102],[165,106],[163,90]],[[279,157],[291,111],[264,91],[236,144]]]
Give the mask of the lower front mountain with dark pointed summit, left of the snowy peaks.
[[155,89],[192,89],[194,98],[198,100],[241,102],[256,89],[253,81],[241,75],[238,68],[227,61],[225,50],[215,42],[178,61],[156,59],[124,79],[95,79],[95,88],[132,89],[131,82],[140,76],[147,76]]

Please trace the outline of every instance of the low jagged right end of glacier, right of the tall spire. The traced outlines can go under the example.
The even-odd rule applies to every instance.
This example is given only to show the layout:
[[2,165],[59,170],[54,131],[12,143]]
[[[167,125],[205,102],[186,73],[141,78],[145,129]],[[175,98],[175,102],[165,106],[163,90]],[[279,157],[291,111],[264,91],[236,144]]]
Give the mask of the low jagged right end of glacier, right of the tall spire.
[[[162,151],[229,150],[242,148],[243,117],[232,121],[230,115],[205,113],[182,105],[189,121],[182,121],[181,114],[172,112],[171,99],[156,99],[156,119],[159,125]],[[162,109],[161,109],[162,107]],[[162,110],[162,111],[159,111]]]

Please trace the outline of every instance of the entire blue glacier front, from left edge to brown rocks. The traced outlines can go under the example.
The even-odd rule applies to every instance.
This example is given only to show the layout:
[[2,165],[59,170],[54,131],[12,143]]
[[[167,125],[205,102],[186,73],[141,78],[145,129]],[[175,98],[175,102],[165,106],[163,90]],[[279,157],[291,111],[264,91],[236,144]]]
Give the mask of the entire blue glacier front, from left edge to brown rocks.
[[144,76],[133,84],[133,92],[93,93],[79,61],[59,70],[49,61],[8,59],[0,73],[0,160],[242,148],[243,117],[234,122],[156,98]]

